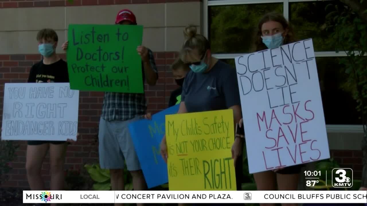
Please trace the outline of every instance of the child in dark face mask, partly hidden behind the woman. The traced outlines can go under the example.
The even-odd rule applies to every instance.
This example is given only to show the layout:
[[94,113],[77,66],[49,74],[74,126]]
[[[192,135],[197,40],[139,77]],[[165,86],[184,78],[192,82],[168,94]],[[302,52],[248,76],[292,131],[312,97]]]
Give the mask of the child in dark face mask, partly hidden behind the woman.
[[178,89],[171,93],[170,102],[168,102],[168,107],[172,107],[175,104],[179,104],[181,102],[181,92],[182,92],[182,84],[185,80],[186,74],[190,71],[189,65],[182,62],[181,59],[176,59],[175,62],[171,66],[173,77],[179,86]]

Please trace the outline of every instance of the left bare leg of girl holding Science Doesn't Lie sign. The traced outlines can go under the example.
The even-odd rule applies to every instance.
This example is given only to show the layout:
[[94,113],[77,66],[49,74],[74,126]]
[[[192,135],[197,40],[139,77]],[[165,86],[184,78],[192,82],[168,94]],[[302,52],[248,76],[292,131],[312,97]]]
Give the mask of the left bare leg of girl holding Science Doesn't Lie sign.
[[[276,175],[273,171],[254,173],[257,190],[277,190]],[[276,206],[274,203],[260,203],[260,206]]]

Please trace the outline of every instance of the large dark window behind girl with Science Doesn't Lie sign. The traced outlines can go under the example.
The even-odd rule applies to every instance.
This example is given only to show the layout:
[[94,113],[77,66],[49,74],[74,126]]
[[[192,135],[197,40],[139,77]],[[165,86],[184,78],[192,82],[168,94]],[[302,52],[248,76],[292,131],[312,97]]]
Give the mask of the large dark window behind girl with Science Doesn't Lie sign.
[[298,40],[313,39],[328,132],[361,131],[353,87],[347,84],[344,68],[338,64],[339,58],[347,57],[344,52],[335,52],[330,40],[333,31],[327,29],[330,3],[340,4],[335,0],[204,0],[204,34],[214,56],[235,67],[236,56],[252,51],[261,16],[272,11],[283,13]]

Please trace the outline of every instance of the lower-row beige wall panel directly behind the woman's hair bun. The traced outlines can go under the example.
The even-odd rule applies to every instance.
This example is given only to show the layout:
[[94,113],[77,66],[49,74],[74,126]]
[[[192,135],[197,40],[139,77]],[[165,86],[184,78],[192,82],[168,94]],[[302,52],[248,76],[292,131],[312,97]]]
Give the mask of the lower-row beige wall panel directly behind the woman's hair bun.
[[[185,27],[168,27],[167,28],[167,51],[179,51],[182,47],[185,37],[183,36]],[[200,32],[200,27],[197,27],[197,33]]]

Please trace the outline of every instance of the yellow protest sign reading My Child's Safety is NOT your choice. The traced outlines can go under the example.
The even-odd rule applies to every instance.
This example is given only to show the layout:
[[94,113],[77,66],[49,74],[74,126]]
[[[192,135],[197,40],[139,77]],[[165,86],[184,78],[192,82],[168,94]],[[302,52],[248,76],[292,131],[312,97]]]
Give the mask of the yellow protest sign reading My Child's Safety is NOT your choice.
[[233,110],[166,115],[170,190],[236,190]]

